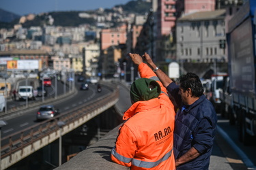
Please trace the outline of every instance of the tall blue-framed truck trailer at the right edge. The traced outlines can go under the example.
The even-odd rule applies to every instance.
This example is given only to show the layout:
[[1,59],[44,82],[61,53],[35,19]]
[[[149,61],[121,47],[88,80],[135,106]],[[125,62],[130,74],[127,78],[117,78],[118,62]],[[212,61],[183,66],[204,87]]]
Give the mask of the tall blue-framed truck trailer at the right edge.
[[245,145],[256,136],[255,7],[255,0],[246,1],[229,20],[227,30],[232,97],[229,117],[235,119],[238,137]]

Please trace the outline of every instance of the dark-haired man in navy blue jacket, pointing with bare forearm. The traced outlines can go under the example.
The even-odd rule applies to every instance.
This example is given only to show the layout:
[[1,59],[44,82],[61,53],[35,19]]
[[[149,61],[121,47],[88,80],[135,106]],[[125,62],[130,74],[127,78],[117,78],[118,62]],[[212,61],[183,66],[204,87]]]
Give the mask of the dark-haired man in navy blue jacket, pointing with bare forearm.
[[216,134],[217,116],[212,103],[203,95],[195,73],[181,75],[179,86],[162,72],[150,56],[143,56],[176,103],[173,150],[176,169],[208,169]]

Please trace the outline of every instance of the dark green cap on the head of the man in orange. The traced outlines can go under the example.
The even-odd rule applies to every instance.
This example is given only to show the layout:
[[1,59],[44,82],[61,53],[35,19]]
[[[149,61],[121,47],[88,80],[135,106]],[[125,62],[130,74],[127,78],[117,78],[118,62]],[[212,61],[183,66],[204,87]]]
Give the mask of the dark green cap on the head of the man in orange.
[[161,88],[158,82],[148,78],[135,80],[130,87],[130,99],[132,101],[148,101],[160,95]]

